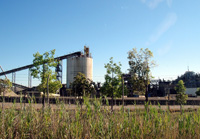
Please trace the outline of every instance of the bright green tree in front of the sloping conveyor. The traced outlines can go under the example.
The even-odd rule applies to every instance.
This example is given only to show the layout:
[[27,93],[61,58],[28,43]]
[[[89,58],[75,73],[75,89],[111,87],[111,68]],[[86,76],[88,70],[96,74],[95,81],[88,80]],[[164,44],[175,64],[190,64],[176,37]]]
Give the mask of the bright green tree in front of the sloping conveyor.
[[[34,78],[41,79],[41,83],[38,86],[38,89],[44,93],[43,95],[43,105],[45,100],[45,93],[47,92],[47,86],[51,93],[55,93],[59,88],[62,87],[60,81],[56,79],[56,72],[53,72],[52,69],[55,68],[58,64],[54,60],[55,49],[50,52],[45,52],[43,55],[37,52],[33,54],[33,65],[31,68],[31,75]],[[48,80],[48,81],[47,81]],[[47,84],[47,82],[49,84]]]

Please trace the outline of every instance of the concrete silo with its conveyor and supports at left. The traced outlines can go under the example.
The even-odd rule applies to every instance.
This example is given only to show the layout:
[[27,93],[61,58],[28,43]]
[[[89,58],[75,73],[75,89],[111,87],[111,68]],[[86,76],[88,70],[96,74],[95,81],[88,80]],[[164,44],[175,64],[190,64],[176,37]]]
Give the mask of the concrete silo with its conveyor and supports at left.
[[[89,47],[84,46],[84,52],[75,52],[67,55],[63,55],[60,57],[56,57],[55,60],[58,61],[58,65],[55,69],[57,73],[57,80],[60,80],[62,83],[62,76],[63,76],[63,60],[66,59],[66,84],[63,84],[63,87],[66,90],[66,87],[69,88],[70,84],[74,81],[74,77],[77,75],[78,72],[81,72],[85,75],[86,78],[93,80],[93,59],[90,53]],[[15,68],[8,71],[3,71],[0,73],[0,76],[6,76],[7,74],[12,74],[12,91],[19,94],[21,92],[26,92],[29,95],[39,96],[40,92],[37,91],[36,87],[32,87],[32,77],[30,69],[33,67],[33,64],[26,65],[23,67]],[[24,85],[17,84],[16,81],[16,72],[28,69],[28,87]],[[66,91],[64,91],[66,92]],[[66,94],[65,94],[66,95]]]

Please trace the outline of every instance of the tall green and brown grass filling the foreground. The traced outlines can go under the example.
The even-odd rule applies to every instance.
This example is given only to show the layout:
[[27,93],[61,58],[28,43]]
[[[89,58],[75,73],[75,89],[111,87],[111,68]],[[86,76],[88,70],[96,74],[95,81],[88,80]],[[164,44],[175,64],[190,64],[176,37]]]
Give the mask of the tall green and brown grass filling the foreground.
[[111,112],[87,98],[70,110],[60,103],[44,110],[18,105],[0,109],[0,138],[200,138],[200,109],[180,114],[146,105]]

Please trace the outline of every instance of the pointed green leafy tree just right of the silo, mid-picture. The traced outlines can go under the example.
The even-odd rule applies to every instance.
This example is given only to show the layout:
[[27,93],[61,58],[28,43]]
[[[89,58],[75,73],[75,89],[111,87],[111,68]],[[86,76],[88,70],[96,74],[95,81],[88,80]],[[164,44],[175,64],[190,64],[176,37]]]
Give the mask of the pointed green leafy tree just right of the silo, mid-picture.
[[113,62],[113,57],[110,58],[109,63],[105,64],[106,75],[105,83],[101,87],[103,95],[112,97],[121,97],[122,94],[122,79],[121,79],[121,63]]

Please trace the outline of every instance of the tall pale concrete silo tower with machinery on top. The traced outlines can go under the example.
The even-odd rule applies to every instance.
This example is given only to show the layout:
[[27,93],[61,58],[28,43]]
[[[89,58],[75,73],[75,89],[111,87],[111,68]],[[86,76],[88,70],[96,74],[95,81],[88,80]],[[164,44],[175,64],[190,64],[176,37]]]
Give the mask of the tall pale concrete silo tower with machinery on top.
[[80,57],[71,57],[67,59],[67,88],[74,81],[77,73],[85,74],[86,78],[93,79],[93,59],[89,48],[84,46],[84,54]]

